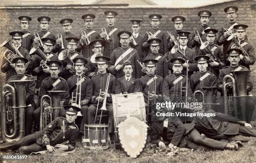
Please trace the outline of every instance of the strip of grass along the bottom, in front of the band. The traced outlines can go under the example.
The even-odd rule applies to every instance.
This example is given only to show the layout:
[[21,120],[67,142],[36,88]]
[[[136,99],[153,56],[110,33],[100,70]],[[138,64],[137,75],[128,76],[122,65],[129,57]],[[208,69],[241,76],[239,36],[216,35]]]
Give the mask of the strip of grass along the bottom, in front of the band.
[[[6,154],[15,154],[8,152]],[[20,161],[4,161],[20,162]],[[25,161],[24,161],[25,162]],[[215,151],[185,151],[179,152],[173,157],[168,157],[167,153],[143,153],[138,158],[130,158],[123,150],[115,150],[114,145],[110,145],[107,150],[86,150],[81,143],[77,142],[77,149],[74,153],[67,155],[33,155],[28,156],[27,163],[256,163],[256,138],[251,138],[248,143],[238,151],[215,150]]]

